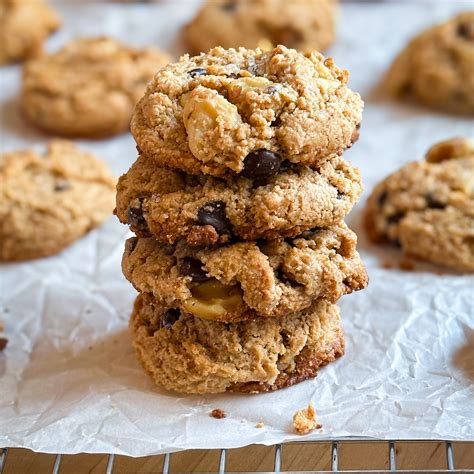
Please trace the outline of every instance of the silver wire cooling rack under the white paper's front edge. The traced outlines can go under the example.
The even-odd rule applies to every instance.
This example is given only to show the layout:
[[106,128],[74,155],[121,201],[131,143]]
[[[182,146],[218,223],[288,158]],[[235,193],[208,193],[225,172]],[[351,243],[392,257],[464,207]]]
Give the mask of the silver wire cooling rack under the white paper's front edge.
[[[337,472],[339,471],[339,447],[341,443],[360,443],[364,441],[363,438],[357,438],[357,439],[341,439],[341,440],[334,440],[331,441],[331,471],[332,472]],[[369,441],[366,439],[366,441]],[[397,469],[397,452],[396,452],[396,443],[398,441],[392,440],[392,441],[376,441],[373,439],[370,439],[370,441],[377,442],[377,444],[384,444],[386,443],[387,446],[387,460],[388,460],[388,470],[357,470],[357,471],[351,471],[351,470],[344,470],[341,472],[345,473],[354,473],[354,472],[372,472],[372,473],[389,473],[389,472],[405,472],[405,473],[420,473],[420,472],[466,472],[466,473],[474,473],[474,469],[462,469],[462,470],[457,470],[455,468],[455,459],[454,459],[454,450],[453,450],[453,445],[451,441],[439,441],[444,444],[445,446],[445,453],[446,453],[446,468],[445,469],[437,469],[437,470],[427,470],[427,469],[421,469],[421,470],[398,470]],[[433,442],[433,440],[402,440],[404,443],[405,442]],[[318,440],[318,441],[305,441],[305,442],[299,442],[299,444],[306,444],[306,445],[311,445],[311,444],[321,444],[321,443],[328,443],[327,440]],[[292,443],[288,443],[292,444]],[[282,471],[281,466],[282,466],[282,460],[283,460],[283,446],[285,444],[276,444],[274,446],[269,446],[267,449],[273,450],[274,451],[274,458],[273,458],[273,470],[272,471],[265,471],[265,472],[273,472],[273,473],[285,473],[285,472],[292,472],[292,473],[302,473],[302,472],[312,472],[312,473],[318,473],[318,472],[330,472],[330,471]],[[473,446],[474,449],[474,446]],[[7,456],[8,456],[8,448],[0,449],[0,474],[3,474],[4,467],[6,464]],[[220,455],[219,455],[219,460],[218,463],[215,467],[215,470],[211,472],[219,473],[219,474],[224,474],[224,473],[230,473],[230,471],[226,470],[226,458],[227,458],[227,453],[230,450],[227,449],[221,449],[220,450]],[[162,472],[163,474],[169,474],[170,473],[170,465],[171,465],[171,460],[172,460],[172,454],[168,453],[164,455],[163,458],[163,467],[162,467]],[[52,467],[51,473],[52,474],[60,474],[61,472],[61,462],[63,459],[62,454],[57,454],[55,457],[54,465]],[[114,463],[115,463],[115,455],[114,454],[109,454],[108,459],[107,459],[107,465],[105,467],[105,474],[113,474],[114,472]],[[97,472],[94,470],[94,472]],[[140,471],[143,472],[143,471]],[[156,471],[154,471],[156,472]],[[235,472],[235,471],[234,471]],[[250,472],[250,471],[239,471],[239,472]]]

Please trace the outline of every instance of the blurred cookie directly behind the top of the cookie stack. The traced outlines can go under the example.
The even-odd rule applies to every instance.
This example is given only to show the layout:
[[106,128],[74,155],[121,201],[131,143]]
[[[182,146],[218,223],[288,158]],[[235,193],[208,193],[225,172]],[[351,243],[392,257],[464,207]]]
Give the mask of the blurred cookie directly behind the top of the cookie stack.
[[334,0],[207,0],[184,38],[193,54],[279,44],[324,51],[334,41],[335,14]]

